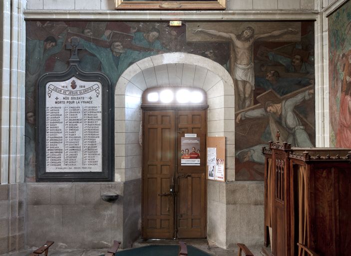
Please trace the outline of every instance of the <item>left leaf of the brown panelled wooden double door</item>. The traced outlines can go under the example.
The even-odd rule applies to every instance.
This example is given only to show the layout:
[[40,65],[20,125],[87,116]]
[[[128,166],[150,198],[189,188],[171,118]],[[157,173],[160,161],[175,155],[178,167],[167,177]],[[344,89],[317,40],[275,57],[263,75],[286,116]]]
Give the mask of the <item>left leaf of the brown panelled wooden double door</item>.
[[143,236],[173,238],[175,112],[144,112]]

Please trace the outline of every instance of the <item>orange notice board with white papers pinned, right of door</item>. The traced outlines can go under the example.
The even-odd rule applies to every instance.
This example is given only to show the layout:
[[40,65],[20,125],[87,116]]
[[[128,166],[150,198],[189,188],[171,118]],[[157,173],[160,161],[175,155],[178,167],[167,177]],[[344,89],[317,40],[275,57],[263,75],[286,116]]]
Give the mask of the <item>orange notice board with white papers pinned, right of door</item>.
[[207,178],[225,181],[225,137],[207,137],[206,142]]

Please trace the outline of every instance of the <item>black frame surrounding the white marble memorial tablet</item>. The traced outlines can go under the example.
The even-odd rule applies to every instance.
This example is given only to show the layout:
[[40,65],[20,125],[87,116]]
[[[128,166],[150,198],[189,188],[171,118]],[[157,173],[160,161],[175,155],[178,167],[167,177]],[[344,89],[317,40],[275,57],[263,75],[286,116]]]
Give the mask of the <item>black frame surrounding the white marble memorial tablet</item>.
[[[112,181],[114,168],[114,97],[110,79],[101,72],[85,72],[78,64],[79,60],[70,62],[66,71],[48,72],[43,74],[38,80],[37,100],[36,100],[36,181]],[[48,82],[66,81],[72,77],[83,81],[98,81],[101,83],[102,102],[102,171],[101,172],[46,172],[46,84]],[[112,158],[113,157],[113,158]]]

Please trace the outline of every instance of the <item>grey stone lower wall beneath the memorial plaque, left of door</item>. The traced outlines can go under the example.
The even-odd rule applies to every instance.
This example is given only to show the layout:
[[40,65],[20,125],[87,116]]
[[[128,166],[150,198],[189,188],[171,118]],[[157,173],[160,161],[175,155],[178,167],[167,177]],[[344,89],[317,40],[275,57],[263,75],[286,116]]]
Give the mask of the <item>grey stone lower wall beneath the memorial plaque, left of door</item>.
[[[106,192],[120,196],[105,202]],[[123,240],[121,182],[27,183],[26,196],[27,247],[53,240],[54,248],[106,248]]]

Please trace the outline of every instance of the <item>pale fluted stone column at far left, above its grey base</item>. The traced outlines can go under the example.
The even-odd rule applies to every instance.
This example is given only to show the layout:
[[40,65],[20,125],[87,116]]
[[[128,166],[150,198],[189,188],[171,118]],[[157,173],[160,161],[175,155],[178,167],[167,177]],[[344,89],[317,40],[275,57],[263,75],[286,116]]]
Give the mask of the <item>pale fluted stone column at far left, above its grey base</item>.
[[25,0],[4,0],[0,5],[0,181],[23,182]]

